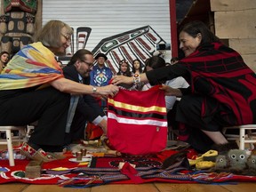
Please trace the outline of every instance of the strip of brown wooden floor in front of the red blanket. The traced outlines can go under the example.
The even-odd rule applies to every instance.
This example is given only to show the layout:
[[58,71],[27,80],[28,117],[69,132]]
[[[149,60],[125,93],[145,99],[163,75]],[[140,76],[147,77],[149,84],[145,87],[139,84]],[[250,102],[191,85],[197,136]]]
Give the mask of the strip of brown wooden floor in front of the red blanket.
[[[4,149],[0,145],[0,150]],[[1,161],[0,161],[1,165]],[[93,188],[62,188],[57,185],[30,185],[23,183],[0,184],[1,192],[253,192],[256,191],[256,182],[238,183],[236,185],[206,185],[206,184],[176,184],[176,183],[147,183],[140,185],[132,184],[108,184]]]

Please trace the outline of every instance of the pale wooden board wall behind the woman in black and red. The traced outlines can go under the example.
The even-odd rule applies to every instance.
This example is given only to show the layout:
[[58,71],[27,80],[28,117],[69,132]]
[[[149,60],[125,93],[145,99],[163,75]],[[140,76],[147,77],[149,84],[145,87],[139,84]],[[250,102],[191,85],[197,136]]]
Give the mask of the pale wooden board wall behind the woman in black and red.
[[211,0],[215,34],[256,72],[256,0]]

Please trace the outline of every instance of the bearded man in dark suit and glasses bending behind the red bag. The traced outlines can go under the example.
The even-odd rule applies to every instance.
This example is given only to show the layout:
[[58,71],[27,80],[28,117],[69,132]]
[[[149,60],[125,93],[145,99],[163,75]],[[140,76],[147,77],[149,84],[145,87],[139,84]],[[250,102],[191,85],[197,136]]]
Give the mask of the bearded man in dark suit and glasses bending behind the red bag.
[[[63,68],[66,78],[80,84],[90,84],[90,72],[92,63],[86,62],[92,57],[92,52],[81,49],[78,50]],[[107,134],[107,116],[100,108],[100,104],[92,95],[84,94],[77,97],[75,115],[71,123],[70,132],[67,132],[66,144],[72,141],[84,139],[84,128],[87,121],[99,125],[104,134]]]

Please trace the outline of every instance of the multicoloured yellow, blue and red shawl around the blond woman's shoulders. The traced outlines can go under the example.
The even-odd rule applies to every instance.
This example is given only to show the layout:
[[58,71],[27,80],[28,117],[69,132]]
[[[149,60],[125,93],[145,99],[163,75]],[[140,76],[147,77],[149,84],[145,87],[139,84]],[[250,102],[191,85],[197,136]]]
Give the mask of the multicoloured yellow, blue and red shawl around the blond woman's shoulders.
[[17,52],[0,75],[0,90],[47,84],[62,77],[54,54],[42,43],[28,44]]

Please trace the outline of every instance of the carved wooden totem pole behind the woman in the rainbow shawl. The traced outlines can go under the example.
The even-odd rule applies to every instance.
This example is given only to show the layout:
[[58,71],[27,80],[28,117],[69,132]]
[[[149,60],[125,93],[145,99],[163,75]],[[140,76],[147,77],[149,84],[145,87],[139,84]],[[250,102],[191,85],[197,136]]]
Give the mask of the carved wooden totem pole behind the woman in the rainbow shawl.
[[0,51],[15,54],[33,42],[36,0],[4,0],[4,15],[0,16]]

